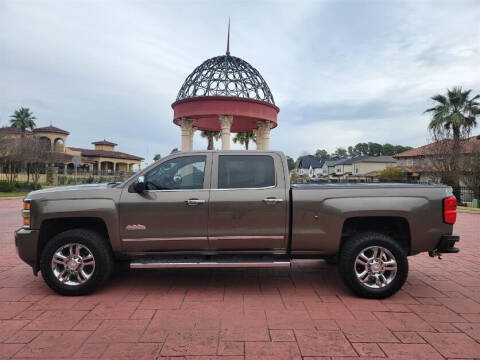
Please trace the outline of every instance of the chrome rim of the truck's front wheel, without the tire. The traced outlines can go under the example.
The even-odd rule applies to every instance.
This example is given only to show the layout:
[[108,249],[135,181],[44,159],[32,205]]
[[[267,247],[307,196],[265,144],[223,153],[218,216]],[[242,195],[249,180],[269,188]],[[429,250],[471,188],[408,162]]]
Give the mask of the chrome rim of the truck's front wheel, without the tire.
[[67,244],[52,257],[53,275],[63,284],[77,286],[88,281],[95,271],[95,258],[85,245]]

